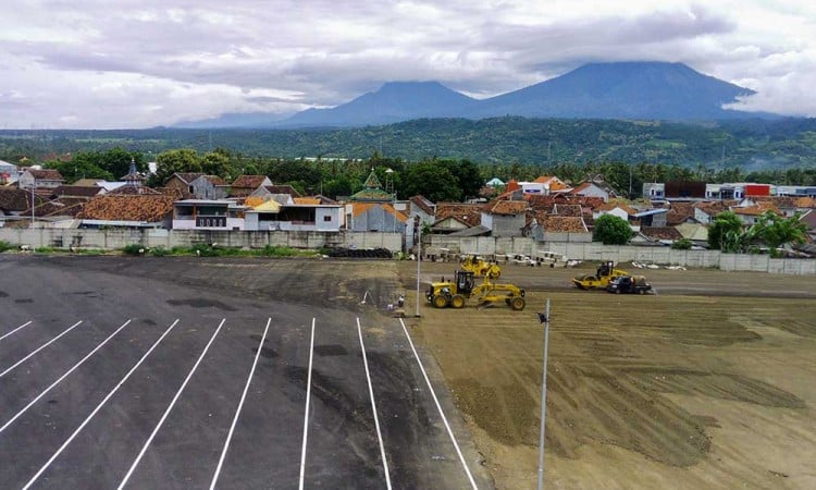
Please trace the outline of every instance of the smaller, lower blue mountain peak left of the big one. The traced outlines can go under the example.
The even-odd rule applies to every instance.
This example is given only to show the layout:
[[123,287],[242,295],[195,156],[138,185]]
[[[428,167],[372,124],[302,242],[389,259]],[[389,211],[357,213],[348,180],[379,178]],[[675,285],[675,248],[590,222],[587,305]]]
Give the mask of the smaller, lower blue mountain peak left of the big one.
[[286,127],[363,126],[422,118],[453,118],[477,103],[437,82],[392,82],[331,109],[308,109],[283,121]]

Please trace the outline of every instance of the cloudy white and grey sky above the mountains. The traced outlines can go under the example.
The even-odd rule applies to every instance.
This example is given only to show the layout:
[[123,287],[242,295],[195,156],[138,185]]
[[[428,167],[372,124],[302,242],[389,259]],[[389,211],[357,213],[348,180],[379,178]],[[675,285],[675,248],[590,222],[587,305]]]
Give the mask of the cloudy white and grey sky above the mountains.
[[795,0],[2,0],[0,128],[284,117],[395,81],[485,98],[590,62],[685,63],[816,117],[816,5]]

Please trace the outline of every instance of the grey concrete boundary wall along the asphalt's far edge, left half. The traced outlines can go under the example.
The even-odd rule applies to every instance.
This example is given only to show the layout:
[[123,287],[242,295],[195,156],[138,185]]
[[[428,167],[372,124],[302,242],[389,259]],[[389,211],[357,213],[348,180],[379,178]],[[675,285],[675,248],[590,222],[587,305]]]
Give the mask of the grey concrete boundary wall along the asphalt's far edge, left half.
[[226,230],[64,230],[64,229],[0,229],[0,241],[34,247],[116,249],[139,244],[146,247],[172,248],[217,243],[224,247],[263,248],[282,245],[293,248],[357,247],[403,248],[400,233],[316,232],[316,231],[226,231]]

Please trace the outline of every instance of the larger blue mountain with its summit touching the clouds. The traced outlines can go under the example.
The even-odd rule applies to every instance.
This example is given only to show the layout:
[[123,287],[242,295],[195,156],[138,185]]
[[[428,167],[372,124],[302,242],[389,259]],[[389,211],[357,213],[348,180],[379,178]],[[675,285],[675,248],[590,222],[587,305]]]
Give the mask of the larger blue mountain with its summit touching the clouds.
[[755,117],[722,109],[754,94],[682,63],[592,63],[565,75],[482,100],[468,114],[527,118],[712,120]]

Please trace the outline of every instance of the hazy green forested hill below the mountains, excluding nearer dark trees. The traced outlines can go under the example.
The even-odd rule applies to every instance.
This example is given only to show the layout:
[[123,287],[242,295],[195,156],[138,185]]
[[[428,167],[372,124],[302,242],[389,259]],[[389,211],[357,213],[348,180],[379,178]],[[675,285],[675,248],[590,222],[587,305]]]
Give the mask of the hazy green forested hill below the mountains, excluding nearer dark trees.
[[[816,119],[665,122],[495,118],[421,119],[346,130],[0,131],[0,159],[122,147],[158,154],[225,148],[258,157],[364,159],[379,152],[419,161],[477,163],[652,162],[744,171],[816,168]],[[149,158],[149,157],[148,157]]]

